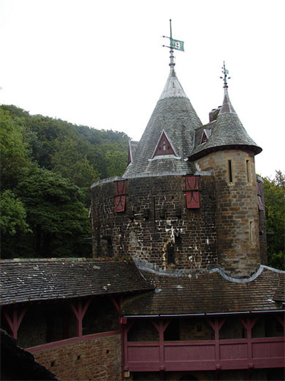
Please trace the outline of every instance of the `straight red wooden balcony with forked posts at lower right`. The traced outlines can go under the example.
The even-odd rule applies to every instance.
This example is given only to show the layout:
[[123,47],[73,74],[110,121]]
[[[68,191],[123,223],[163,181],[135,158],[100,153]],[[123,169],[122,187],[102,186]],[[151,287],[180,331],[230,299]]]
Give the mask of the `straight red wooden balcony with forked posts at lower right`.
[[159,341],[128,342],[131,322],[123,329],[124,370],[230,370],[284,366],[284,337],[252,338],[251,330],[257,318],[246,317],[241,322],[247,329],[247,338],[220,340],[219,332],[225,320],[207,319],[215,339],[203,341],[164,341],[163,333],[170,320],[152,320],[159,333]]

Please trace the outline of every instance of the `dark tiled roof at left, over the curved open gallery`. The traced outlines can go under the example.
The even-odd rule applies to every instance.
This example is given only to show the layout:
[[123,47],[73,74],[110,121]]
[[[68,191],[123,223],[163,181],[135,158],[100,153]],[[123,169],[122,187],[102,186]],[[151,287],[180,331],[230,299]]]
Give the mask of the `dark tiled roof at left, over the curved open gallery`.
[[0,304],[149,290],[133,261],[4,259]]

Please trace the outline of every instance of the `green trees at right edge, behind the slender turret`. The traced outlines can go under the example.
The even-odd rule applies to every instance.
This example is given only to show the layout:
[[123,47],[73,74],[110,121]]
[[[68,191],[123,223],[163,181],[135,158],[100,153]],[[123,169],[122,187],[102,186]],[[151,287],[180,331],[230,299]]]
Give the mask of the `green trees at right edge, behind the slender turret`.
[[268,264],[285,270],[285,179],[281,171],[275,178],[264,178],[266,230],[268,236]]

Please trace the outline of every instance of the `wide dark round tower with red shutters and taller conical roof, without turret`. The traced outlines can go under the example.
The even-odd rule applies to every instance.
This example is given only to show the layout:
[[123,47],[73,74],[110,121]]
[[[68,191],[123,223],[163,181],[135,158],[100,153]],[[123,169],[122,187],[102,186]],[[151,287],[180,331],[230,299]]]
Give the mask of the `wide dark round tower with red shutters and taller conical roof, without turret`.
[[202,126],[174,70],[139,142],[130,142],[122,178],[92,192],[93,256],[132,256],[165,270],[217,264],[215,184],[188,155]]

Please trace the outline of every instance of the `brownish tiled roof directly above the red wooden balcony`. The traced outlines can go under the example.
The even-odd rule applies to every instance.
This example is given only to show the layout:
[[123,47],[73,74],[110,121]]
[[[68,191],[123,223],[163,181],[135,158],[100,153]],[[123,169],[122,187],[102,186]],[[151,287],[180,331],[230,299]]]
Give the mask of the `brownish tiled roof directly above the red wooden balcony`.
[[[262,267],[246,282],[227,279],[218,272],[179,277],[143,271],[155,291],[128,298],[124,315],[210,314],[280,309],[274,294],[285,272]],[[284,294],[284,290],[283,290]]]

